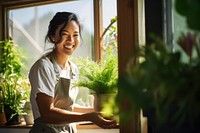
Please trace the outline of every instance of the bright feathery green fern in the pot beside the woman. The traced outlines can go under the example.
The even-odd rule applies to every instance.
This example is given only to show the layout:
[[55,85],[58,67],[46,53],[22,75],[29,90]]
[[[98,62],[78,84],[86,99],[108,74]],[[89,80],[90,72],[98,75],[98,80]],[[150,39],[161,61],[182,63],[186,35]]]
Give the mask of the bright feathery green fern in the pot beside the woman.
[[113,94],[117,93],[117,56],[111,54],[104,56],[100,62],[81,57],[74,59],[74,61],[80,70],[80,77],[75,85],[88,88],[90,93],[94,95],[95,109],[100,110],[97,97],[101,97],[105,101],[105,96],[112,97]]

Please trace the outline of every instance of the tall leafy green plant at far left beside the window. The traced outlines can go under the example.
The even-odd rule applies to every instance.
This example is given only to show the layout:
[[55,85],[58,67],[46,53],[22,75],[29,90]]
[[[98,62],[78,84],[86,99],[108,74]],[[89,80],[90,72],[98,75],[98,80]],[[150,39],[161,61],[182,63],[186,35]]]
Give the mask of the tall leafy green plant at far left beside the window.
[[[22,111],[24,90],[19,83],[21,77],[21,55],[12,40],[0,41],[0,75],[1,75],[1,105],[7,117],[7,124],[18,124],[18,115]],[[7,113],[9,112],[9,113]],[[13,118],[13,119],[12,119]]]

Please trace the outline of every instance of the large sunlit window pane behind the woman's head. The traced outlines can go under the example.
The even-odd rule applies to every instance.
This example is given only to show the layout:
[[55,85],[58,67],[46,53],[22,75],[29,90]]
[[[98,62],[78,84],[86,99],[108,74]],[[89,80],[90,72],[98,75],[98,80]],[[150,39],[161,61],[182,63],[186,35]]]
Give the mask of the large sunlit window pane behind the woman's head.
[[23,73],[28,74],[32,64],[52,44],[45,43],[49,21],[56,12],[74,12],[82,24],[82,41],[73,56],[91,57],[93,45],[93,1],[81,0],[34,7],[13,9],[9,11],[9,36],[20,46],[26,57]]

